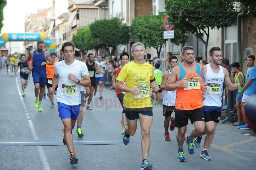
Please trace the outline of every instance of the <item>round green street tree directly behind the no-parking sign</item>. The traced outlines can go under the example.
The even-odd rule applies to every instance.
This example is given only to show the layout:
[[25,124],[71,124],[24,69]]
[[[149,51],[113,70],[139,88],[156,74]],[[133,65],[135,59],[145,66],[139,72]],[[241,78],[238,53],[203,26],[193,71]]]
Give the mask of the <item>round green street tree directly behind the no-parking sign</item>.
[[[133,37],[136,41],[142,42],[145,47],[154,47],[157,50],[157,55],[160,57],[162,45],[166,43],[163,38],[163,20],[166,15],[160,13],[159,15],[145,15],[138,16],[133,19],[129,27]],[[174,27],[174,38],[171,41],[175,44],[183,44],[187,42],[186,31],[182,32],[180,29]],[[159,48],[160,46],[160,48]]]

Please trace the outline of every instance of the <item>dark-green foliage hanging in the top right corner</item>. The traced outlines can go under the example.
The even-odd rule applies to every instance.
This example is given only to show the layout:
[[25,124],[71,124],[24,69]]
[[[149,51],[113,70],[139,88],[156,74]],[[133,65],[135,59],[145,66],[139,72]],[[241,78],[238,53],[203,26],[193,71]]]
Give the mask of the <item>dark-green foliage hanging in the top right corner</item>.
[[239,0],[241,2],[241,11],[244,11],[251,18],[256,17],[256,1],[255,0]]

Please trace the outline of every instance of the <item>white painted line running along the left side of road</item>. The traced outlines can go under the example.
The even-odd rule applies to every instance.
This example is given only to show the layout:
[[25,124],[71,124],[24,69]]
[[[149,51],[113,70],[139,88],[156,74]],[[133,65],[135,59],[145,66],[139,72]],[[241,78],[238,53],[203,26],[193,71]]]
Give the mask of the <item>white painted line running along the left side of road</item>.
[[[24,110],[27,110],[27,106],[26,106],[26,104],[25,104],[25,102],[23,100],[23,97],[21,95],[21,90],[19,88],[19,84],[18,84],[18,79],[19,78],[20,77],[16,77],[16,85],[17,85],[17,89],[18,89],[18,93],[19,93],[19,96],[20,96],[20,99],[21,99],[22,106],[23,106]],[[33,125],[32,121],[28,120],[28,123],[29,123],[29,127],[30,127],[30,129],[32,131],[32,135],[33,135],[34,139],[38,140],[38,136],[36,134],[36,131],[35,131],[35,128],[34,128],[34,125]],[[43,148],[41,146],[37,146],[36,148],[37,148],[37,150],[39,152],[39,156],[41,158],[41,162],[43,164],[44,169],[45,170],[50,170],[50,166],[49,166],[49,163],[48,163],[48,161],[46,159],[46,156],[44,154]]]

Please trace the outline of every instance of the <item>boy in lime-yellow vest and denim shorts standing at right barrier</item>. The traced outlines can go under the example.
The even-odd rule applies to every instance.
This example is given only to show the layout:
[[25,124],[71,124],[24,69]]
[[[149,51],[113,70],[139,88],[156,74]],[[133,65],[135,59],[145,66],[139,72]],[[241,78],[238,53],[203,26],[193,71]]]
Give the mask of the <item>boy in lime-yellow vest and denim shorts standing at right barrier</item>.
[[244,87],[244,75],[239,68],[240,68],[239,63],[234,62],[233,64],[231,64],[231,69],[233,72],[233,74],[231,75],[231,82],[235,83],[235,81],[237,81],[238,83],[240,83],[240,86],[241,86],[241,88],[237,90],[236,103],[235,103],[238,120],[237,122],[233,123],[233,126],[239,126],[239,125],[242,125],[243,123],[243,116],[242,116],[242,110],[240,105],[243,97],[242,89]]

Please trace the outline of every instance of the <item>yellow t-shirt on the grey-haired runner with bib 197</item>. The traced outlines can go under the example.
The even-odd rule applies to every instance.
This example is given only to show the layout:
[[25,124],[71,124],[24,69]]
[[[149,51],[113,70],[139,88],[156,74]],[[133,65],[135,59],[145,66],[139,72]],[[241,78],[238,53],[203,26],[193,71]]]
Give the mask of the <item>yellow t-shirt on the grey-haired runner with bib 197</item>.
[[151,64],[136,64],[131,61],[125,64],[119,73],[116,80],[123,82],[126,81],[126,87],[134,88],[140,86],[140,95],[135,95],[130,92],[126,92],[123,97],[123,106],[127,108],[145,108],[152,107],[150,102],[150,80],[153,80],[154,69]]

